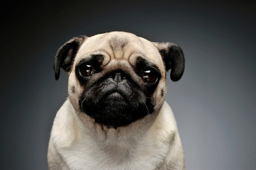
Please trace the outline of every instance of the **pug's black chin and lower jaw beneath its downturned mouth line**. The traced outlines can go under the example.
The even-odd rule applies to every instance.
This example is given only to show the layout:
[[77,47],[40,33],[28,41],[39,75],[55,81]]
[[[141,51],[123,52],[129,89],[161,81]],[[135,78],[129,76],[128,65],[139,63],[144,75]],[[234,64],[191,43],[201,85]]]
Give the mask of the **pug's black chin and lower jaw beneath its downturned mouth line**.
[[96,123],[109,128],[118,128],[144,118],[149,113],[148,106],[143,100],[134,101],[134,98],[129,100],[127,98],[127,96],[114,92],[107,94],[98,102],[87,102],[84,99],[80,107]]

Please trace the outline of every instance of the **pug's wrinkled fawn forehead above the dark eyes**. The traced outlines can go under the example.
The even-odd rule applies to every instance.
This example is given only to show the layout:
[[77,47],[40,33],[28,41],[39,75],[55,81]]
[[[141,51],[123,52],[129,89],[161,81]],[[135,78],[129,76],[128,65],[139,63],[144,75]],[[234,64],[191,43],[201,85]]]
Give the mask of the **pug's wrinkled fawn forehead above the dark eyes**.
[[132,64],[140,56],[157,65],[163,64],[160,53],[152,42],[132,33],[111,32],[87,38],[77,52],[77,62],[90,54],[104,55],[105,62],[127,60]]

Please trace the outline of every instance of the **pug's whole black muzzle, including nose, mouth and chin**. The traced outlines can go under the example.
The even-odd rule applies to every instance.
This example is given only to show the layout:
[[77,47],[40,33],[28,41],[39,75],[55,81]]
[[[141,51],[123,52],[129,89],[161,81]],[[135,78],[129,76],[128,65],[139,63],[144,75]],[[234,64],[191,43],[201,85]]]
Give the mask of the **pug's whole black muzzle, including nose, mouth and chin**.
[[84,113],[96,123],[117,128],[153,113],[155,103],[146,86],[139,86],[128,74],[116,70],[85,86],[79,100]]

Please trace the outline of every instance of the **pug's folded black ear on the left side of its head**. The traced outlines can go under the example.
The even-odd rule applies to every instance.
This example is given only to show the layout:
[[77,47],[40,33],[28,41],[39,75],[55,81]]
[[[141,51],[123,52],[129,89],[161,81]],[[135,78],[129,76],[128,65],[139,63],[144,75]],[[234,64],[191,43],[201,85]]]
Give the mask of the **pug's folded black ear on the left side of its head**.
[[85,35],[80,35],[78,37],[72,38],[64,45],[62,45],[57,51],[54,64],[56,80],[60,77],[60,67],[66,72],[70,71],[74,61],[74,57],[77,54],[79,47],[82,45],[86,38],[87,36]]

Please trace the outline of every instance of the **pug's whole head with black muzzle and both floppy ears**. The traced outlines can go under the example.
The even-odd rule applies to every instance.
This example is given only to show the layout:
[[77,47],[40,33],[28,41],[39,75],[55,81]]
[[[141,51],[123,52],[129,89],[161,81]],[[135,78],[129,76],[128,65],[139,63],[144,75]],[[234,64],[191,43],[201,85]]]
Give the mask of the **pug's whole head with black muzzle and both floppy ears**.
[[181,48],[156,43],[131,33],[80,36],[62,45],[55,57],[69,72],[68,94],[81,118],[118,128],[157,114],[165,101],[165,77],[177,81],[184,72]]

